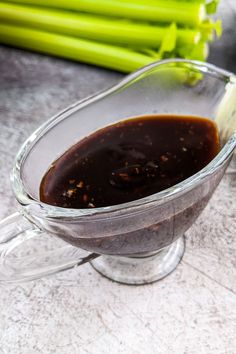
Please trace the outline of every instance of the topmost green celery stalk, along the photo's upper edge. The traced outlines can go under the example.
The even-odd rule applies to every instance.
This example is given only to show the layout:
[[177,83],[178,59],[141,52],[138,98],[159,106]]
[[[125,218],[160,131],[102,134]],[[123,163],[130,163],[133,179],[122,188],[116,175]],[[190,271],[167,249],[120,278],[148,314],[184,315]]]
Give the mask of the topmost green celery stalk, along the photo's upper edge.
[[176,22],[195,27],[206,18],[206,8],[201,2],[178,0],[8,0],[67,10],[84,11],[104,16],[115,16],[154,22]]

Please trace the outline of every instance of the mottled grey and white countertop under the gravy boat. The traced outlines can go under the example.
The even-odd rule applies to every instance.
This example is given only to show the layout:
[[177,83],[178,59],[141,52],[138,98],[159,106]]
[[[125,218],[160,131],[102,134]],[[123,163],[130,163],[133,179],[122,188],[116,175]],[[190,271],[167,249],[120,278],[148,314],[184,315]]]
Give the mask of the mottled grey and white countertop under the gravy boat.
[[[236,72],[236,1],[223,0],[210,61]],[[0,217],[25,138],[62,108],[122,77],[0,47]],[[113,283],[89,264],[0,288],[0,354],[235,354],[236,177],[227,175],[187,233],[178,268],[145,286]]]

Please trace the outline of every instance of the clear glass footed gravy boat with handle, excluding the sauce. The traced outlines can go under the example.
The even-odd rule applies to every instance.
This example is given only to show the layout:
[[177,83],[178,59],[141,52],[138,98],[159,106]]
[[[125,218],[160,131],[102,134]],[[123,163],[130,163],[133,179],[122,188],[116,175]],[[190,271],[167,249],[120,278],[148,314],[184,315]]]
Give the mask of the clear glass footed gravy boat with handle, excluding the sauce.
[[[174,270],[184,253],[184,233],[206,206],[236,147],[235,82],[233,74],[210,64],[164,60],[43,124],[15,160],[11,179],[20,212],[0,223],[0,282],[32,280],[88,261],[127,284],[150,283]],[[222,148],[197,174],[146,198],[78,210],[40,202],[44,173],[70,146],[104,126],[145,114],[217,120]]]

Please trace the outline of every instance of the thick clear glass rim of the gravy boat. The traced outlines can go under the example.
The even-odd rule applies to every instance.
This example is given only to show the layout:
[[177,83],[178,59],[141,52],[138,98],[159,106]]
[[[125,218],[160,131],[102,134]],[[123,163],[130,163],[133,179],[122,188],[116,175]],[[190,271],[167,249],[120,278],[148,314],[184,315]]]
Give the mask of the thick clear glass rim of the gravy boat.
[[[125,84],[129,83],[130,81],[140,77],[140,75],[152,70],[153,68],[166,65],[166,64],[175,64],[175,63],[183,63],[183,64],[191,64],[195,68],[197,68],[200,72],[209,75],[209,76],[216,76],[221,80],[228,81],[231,84],[236,83],[236,76],[224,69],[218,68],[217,66],[209,63],[204,63],[200,61],[193,61],[193,60],[185,60],[185,59],[166,59],[151,63],[147,66],[142,67],[141,69],[135,71],[127,75],[124,79],[118,82],[116,85],[112,86],[109,89],[103,90],[100,93],[97,93],[93,96],[89,96],[83,100],[77,101],[74,104],[70,105],[63,111],[57,113],[52,118],[47,120],[45,123],[40,125],[40,127],[35,130],[28,139],[23,143],[20,150],[18,151],[14,167],[11,173],[11,182],[13,191],[17,201],[23,206],[29,205],[36,205],[40,207],[40,211],[47,217],[47,218],[83,218],[83,217],[101,217],[103,218],[104,215],[109,213],[114,214],[114,217],[117,215],[130,213],[133,214],[140,210],[140,207],[155,207],[163,203],[163,201],[167,202],[171,199],[178,197],[179,195],[191,190],[193,187],[198,186],[203,179],[209,177],[212,173],[214,173],[221,164],[230,157],[233,153],[233,150],[236,147],[236,132],[228,139],[224,147],[220,150],[220,152],[216,155],[216,157],[202,170],[197,172],[196,174],[192,175],[191,177],[183,180],[182,182],[169,187],[163,191],[158,193],[151,194],[147,197],[133,200],[131,202],[117,204],[113,206],[106,206],[106,207],[99,207],[99,208],[88,208],[88,209],[70,209],[70,208],[63,208],[52,206],[46,203],[41,202],[39,199],[34,198],[30,194],[28,194],[25,190],[23,180],[21,179],[21,166],[24,163],[25,159],[27,158],[28,153],[31,151],[32,147],[37,143],[37,141],[44,135],[46,131],[51,129],[55,123],[60,122],[61,120],[65,119],[68,115],[75,112],[77,109],[81,109],[93,102],[100,100],[101,98],[109,95],[117,91],[118,89],[122,88]],[[123,214],[122,214],[123,215]]]

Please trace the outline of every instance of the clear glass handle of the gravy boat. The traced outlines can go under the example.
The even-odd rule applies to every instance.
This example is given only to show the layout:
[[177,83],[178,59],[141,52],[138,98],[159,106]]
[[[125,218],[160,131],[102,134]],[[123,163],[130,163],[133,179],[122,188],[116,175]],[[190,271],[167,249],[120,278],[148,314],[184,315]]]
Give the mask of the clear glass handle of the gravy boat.
[[[48,241],[51,245],[48,249]],[[19,283],[77,267],[99,257],[60,240],[16,212],[0,221],[0,284]]]

